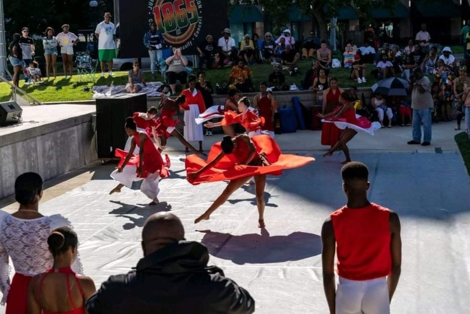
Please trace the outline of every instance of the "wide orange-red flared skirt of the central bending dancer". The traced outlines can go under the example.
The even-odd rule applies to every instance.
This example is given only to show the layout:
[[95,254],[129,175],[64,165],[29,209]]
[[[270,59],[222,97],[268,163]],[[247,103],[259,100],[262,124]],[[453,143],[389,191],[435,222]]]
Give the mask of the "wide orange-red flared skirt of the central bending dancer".
[[[270,165],[249,166],[237,165],[238,154],[227,154],[212,168],[207,169],[199,175],[194,181],[186,178],[192,185],[204,182],[215,182],[225,180],[235,180],[254,175],[271,174],[280,175],[284,169],[293,169],[307,165],[313,161],[313,157],[302,157],[297,155],[282,154],[277,143],[269,135],[255,135],[251,138],[254,143],[258,155],[262,155],[270,163]],[[207,160],[210,162],[215,159],[222,151],[220,142],[215,143],[211,147]],[[208,162],[196,155],[186,157],[186,173],[194,173],[202,169]]]

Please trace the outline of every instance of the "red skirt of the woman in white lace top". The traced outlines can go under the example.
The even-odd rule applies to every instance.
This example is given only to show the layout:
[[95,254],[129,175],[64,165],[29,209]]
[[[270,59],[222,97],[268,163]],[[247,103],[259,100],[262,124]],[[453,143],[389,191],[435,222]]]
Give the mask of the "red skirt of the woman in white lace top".
[[28,314],[28,286],[32,277],[16,273],[8,291],[5,314]]

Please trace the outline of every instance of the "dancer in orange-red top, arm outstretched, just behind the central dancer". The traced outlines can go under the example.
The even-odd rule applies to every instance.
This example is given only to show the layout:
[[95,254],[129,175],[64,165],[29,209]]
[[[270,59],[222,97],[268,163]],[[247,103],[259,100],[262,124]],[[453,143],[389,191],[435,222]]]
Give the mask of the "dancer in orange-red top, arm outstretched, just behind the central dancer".
[[[213,123],[213,122],[207,122],[204,126],[207,128],[212,128],[216,126],[227,126],[231,127],[232,125],[239,123],[241,124],[245,130],[248,136],[253,137],[254,135],[259,135],[261,134],[259,131],[261,129],[261,126],[264,125],[265,119],[259,117],[256,113],[254,113],[250,108],[250,100],[248,97],[243,97],[240,99],[238,102],[238,112],[228,110],[224,114],[224,118],[222,121]],[[227,131],[229,129],[227,128]],[[236,133],[235,130],[231,127],[231,131],[227,134],[231,137],[235,137]]]

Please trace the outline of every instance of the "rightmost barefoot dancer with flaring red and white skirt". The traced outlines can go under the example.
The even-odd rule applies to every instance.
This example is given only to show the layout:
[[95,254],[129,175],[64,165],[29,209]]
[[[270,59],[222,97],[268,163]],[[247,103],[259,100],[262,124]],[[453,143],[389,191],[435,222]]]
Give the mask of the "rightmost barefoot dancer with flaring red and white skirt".
[[343,152],[346,156],[346,160],[342,164],[347,164],[351,161],[351,157],[349,156],[349,149],[346,143],[351,141],[358,131],[363,131],[374,135],[374,131],[380,129],[381,126],[378,122],[371,123],[365,117],[356,118],[354,100],[351,98],[349,93],[341,93],[339,101],[343,104],[340,109],[337,109],[336,111],[327,115],[318,114],[320,118],[335,116],[335,118],[323,119],[321,121],[324,123],[334,123],[339,129],[345,130],[341,134],[339,141],[337,141],[337,143],[333,145],[333,147],[328,152],[326,152],[323,157],[332,156],[334,151],[336,151],[338,148],[341,148],[343,149]]

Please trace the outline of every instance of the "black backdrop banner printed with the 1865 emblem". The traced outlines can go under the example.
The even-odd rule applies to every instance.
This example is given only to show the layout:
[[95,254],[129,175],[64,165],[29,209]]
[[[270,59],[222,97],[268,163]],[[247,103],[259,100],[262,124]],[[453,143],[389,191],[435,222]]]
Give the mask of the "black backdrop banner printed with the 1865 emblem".
[[226,0],[116,0],[115,17],[120,58],[148,57],[143,37],[157,23],[167,47],[180,47],[185,55],[211,34],[217,42],[228,26]]

